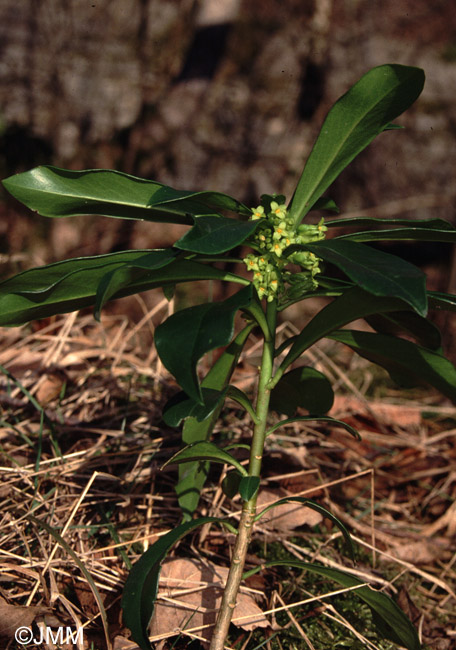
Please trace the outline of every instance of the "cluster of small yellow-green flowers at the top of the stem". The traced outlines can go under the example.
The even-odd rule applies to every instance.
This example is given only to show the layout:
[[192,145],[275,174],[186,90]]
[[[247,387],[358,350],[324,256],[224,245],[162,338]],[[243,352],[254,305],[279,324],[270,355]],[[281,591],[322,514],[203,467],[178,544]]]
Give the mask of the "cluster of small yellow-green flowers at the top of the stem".
[[[274,200],[274,199],[278,200]],[[300,277],[300,286],[306,291],[316,289],[315,276],[320,272],[319,258],[310,251],[285,251],[293,244],[309,244],[324,239],[327,227],[323,219],[317,225],[302,224],[295,229],[293,219],[288,216],[284,197],[262,197],[262,203],[252,209],[252,220],[261,219],[254,235],[249,241],[258,253],[244,258],[249,271],[253,272],[253,284],[260,299],[274,300],[285,290],[285,281],[290,282],[293,275]],[[273,200],[271,200],[273,199]],[[285,254],[284,254],[285,253]],[[298,264],[303,271],[298,274],[283,272],[289,264]]]

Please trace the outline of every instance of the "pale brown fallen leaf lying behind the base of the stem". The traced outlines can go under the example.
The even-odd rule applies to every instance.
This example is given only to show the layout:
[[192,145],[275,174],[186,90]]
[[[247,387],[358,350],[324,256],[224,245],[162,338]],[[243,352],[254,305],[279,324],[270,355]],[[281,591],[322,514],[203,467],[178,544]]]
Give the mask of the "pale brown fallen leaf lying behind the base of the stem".
[[[206,560],[179,558],[165,562],[150,634],[173,636],[197,628],[195,633],[209,640],[227,576],[227,568]],[[242,591],[234,608],[233,623],[245,630],[269,625],[253,597]]]

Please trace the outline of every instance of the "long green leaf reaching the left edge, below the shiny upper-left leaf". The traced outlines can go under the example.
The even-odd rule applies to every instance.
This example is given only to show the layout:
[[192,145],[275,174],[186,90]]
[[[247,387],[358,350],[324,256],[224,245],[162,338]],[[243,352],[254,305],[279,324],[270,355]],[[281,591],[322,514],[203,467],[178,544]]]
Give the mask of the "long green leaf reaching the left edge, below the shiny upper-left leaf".
[[[78,257],[23,271],[0,283],[0,326],[17,326],[37,318],[90,307],[95,304],[103,278],[119,269],[116,292],[110,299],[130,296],[155,287],[196,280],[226,280],[250,285],[234,273],[227,273],[191,260],[175,260],[158,269],[136,268],[136,260],[163,260],[163,251],[124,251],[95,257]],[[126,275],[122,275],[125,273]],[[108,283],[109,285],[109,283]],[[103,300],[103,287],[100,289]]]

